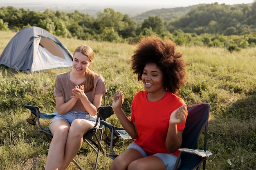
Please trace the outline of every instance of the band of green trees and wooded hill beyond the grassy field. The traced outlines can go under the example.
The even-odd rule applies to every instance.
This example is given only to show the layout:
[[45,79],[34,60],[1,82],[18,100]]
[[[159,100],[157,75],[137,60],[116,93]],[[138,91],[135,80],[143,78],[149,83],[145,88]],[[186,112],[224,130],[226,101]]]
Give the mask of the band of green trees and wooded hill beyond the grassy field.
[[98,12],[94,18],[77,10],[39,12],[8,6],[0,8],[0,30],[20,31],[39,26],[64,38],[127,43],[157,35],[178,45],[224,47],[230,52],[256,46],[256,0],[235,6],[217,2],[200,4],[172,19],[164,17],[164,13],[168,10],[163,9],[162,14],[157,10],[138,24],[127,14],[110,8]]

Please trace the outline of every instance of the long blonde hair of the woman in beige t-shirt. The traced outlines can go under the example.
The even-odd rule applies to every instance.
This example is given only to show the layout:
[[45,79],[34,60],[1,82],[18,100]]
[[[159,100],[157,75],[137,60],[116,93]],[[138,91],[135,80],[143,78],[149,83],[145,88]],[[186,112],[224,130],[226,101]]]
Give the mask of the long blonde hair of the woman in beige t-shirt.
[[[91,62],[93,62],[94,52],[93,52],[93,50],[91,49],[90,46],[87,46],[87,45],[78,46],[76,48],[76,50],[74,51],[74,54],[76,52],[81,52],[83,55],[88,57]],[[89,68],[86,70],[86,72],[85,72],[85,84],[84,84],[84,91],[85,92],[93,90],[94,75],[95,75],[95,73],[93,71],[91,71]]]

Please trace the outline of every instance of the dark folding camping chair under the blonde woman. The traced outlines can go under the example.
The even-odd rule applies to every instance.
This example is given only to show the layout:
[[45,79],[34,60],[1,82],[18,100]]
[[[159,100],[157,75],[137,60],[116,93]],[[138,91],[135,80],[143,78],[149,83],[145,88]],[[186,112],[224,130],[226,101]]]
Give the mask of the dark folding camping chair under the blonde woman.
[[[104,104],[105,104],[105,98],[103,98],[103,99],[104,99]],[[52,119],[55,115],[53,113],[41,113],[37,106],[31,106],[31,105],[25,104],[25,108],[31,110],[31,115],[29,116],[29,118],[27,118],[27,122],[29,122],[29,124],[35,125],[36,121],[37,121],[38,126],[40,127],[38,130],[40,132],[43,132],[46,135],[46,137],[49,139],[49,141],[52,141],[52,137],[53,137],[52,133],[50,132],[49,129],[44,128],[40,124],[40,118],[41,119]],[[92,147],[92,149],[97,152],[97,158],[96,158],[96,161],[95,161],[94,170],[97,169],[97,163],[98,163],[98,158],[99,158],[100,152],[102,152],[103,155],[105,155],[104,150],[101,146],[101,140],[102,140],[102,136],[103,136],[103,124],[100,123],[99,128],[96,127],[97,123],[98,123],[98,118],[100,118],[100,120],[106,121],[106,119],[108,117],[110,117],[113,113],[114,113],[114,111],[113,111],[113,108],[111,106],[101,106],[101,107],[99,107],[95,126],[93,128],[90,128],[88,130],[88,132],[86,132],[85,135],[83,136],[83,141],[85,141],[87,144],[89,144]],[[100,131],[100,136],[99,137],[97,136],[97,131],[98,130]],[[93,140],[92,138],[95,138],[95,140]],[[81,166],[74,159],[72,160],[72,162],[80,170],[83,170],[83,168],[81,168]]]

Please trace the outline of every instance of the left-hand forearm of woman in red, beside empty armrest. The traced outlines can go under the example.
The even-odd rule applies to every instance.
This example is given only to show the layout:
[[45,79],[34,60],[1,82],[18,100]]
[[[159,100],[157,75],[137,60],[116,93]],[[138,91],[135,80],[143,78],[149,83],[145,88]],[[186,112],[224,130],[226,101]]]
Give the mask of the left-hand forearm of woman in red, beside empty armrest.
[[124,110],[121,108],[113,108],[115,114],[117,115],[117,118],[119,119],[121,125],[124,127],[124,129],[126,130],[126,132],[133,138],[137,138],[138,134],[137,131],[135,129],[135,126],[133,125],[133,123],[128,119],[128,117],[126,116],[126,114],[124,113]]

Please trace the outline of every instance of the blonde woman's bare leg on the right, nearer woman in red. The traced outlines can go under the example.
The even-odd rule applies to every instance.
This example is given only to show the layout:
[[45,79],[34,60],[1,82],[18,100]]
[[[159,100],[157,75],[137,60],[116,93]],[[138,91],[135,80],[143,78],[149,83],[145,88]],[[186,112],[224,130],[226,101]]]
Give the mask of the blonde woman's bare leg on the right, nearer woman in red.
[[75,119],[67,135],[64,158],[59,170],[65,170],[82,146],[83,135],[92,128],[94,123],[85,119]]

